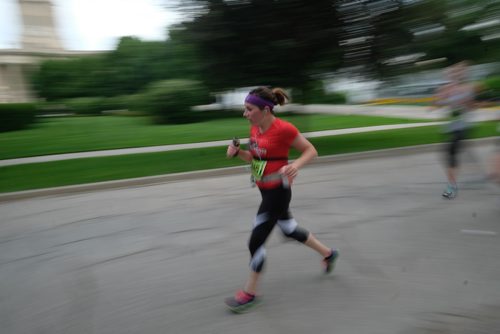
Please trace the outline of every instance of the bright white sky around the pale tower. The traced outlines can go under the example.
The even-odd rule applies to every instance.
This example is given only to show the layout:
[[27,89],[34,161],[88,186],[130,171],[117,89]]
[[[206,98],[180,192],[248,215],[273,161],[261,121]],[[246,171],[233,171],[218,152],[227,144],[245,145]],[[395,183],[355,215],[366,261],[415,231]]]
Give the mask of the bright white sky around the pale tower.
[[[52,0],[59,38],[68,50],[112,50],[121,36],[164,40],[181,20],[165,0]],[[17,0],[0,0],[0,49],[19,48]]]

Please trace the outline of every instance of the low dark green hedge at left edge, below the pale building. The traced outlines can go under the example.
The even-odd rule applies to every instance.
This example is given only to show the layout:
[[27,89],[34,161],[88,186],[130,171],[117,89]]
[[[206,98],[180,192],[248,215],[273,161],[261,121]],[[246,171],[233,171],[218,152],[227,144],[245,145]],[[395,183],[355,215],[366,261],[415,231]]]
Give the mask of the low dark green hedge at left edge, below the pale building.
[[21,130],[35,121],[34,103],[0,104],[0,132]]

